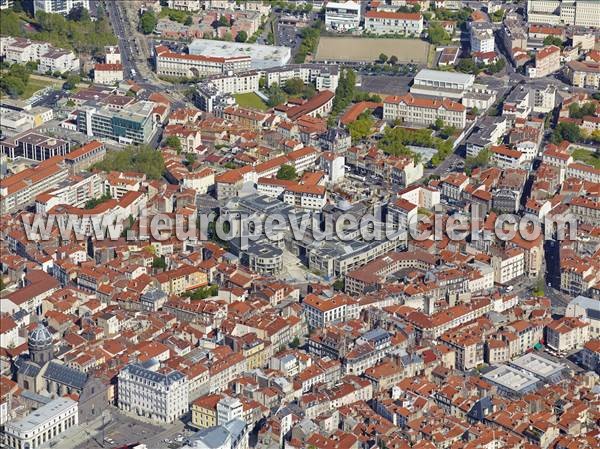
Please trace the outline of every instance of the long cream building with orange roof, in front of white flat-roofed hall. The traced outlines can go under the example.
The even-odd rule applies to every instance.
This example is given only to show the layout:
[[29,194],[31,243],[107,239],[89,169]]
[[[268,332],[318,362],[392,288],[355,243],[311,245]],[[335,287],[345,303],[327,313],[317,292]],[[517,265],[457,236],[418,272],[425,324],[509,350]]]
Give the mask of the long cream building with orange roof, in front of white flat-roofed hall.
[[430,126],[441,119],[447,126],[463,129],[467,122],[467,109],[455,101],[415,97],[409,93],[383,100],[383,119],[400,119],[420,126]]

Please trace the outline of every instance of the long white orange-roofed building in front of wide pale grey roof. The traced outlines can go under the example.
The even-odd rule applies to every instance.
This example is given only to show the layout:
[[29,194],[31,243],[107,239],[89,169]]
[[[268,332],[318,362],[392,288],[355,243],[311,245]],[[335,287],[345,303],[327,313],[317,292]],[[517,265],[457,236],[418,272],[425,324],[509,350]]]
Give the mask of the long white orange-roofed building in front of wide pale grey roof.
[[174,53],[167,47],[155,49],[156,73],[178,78],[199,78],[250,69],[250,56],[212,57]]

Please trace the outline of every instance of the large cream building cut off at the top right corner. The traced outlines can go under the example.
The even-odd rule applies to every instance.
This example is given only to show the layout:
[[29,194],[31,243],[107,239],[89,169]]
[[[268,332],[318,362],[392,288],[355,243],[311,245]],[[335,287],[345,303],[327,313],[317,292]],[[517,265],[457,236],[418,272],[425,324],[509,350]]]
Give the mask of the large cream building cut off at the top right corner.
[[596,0],[528,0],[527,21],[600,28],[600,8]]

